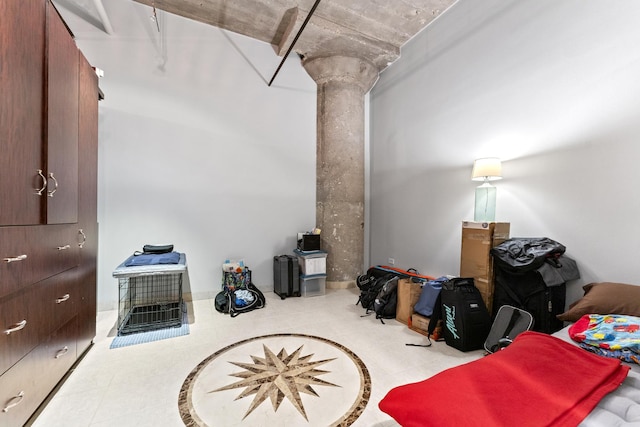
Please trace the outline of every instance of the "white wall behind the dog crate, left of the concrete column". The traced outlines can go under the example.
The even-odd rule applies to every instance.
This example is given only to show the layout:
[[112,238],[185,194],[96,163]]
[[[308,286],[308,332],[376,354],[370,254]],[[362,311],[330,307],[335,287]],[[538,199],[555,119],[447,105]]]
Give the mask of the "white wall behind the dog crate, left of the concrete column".
[[292,58],[268,87],[280,62],[269,45],[163,12],[158,33],[151,8],[104,5],[111,36],[83,16],[92,10],[61,7],[105,73],[99,310],[116,307],[111,274],[147,243],[186,253],[194,299],[219,291],[227,258],[272,290],[273,256],[315,226],[315,83]]

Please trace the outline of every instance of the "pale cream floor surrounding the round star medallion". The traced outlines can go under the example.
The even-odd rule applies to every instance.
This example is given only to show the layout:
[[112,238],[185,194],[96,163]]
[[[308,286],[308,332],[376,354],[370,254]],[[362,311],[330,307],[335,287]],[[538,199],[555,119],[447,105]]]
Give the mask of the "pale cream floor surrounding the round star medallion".
[[[374,316],[361,317],[364,310],[355,305],[358,299],[356,289],[327,290],[322,296],[286,300],[271,292],[265,296],[265,308],[235,318],[216,312],[213,300],[193,301],[189,303],[189,335],[118,349],[109,349],[115,336],[116,311],[98,313],[93,348],[33,425],[183,426],[178,395],[185,379],[200,362],[238,341],[262,335],[293,334],[322,337],[355,354],[369,372],[371,394],[364,411],[352,425],[391,427],[397,423],[378,409],[378,402],[389,389],[425,379],[440,370],[477,359],[482,354],[481,351],[462,353],[444,342],[434,343],[429,348],[406,346],[406,343],[424,344],[426,339],[396,320],[386,320],[381,324]],[[276,352],[279,345],[274,346]],[[254,354],[255,350],[251,350],[251,355]],[[326,369],[330,371],[328,366]],[[315,388],[323,392],[326,389]],[[235,390],[233,396],[238,393]],[[293,405],[286,399],[275,412],[267,399],[260,405],[260,410],[271,413],[270,419],[247,416],[242,420],[242,415],[238,417],[237,411],[230,409],[233,406],[220,404],[219,411],[213,411],[216,422],[207,423],[212,426],[249,427],[326,425],[325,421],[313,418],[312,414],[314,410],[326,412],[334,404],[323,400],[323,394],[319,394],[319,398],[302,396],[310,414],[308,421],[297,411],[290,410]],[[251,399],[240,399],[245,408],[243,411]]]

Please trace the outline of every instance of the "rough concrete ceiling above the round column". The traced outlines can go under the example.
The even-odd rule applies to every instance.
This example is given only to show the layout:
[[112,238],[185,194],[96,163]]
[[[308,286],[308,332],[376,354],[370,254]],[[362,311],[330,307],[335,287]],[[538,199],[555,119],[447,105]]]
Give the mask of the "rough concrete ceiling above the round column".
[[[96,0],[98,1],[98,0]],[[284,56],[315,0],[135,0],[271,44]],[[365,59],[382,71],[457,0],[321,0],[293,51]]]

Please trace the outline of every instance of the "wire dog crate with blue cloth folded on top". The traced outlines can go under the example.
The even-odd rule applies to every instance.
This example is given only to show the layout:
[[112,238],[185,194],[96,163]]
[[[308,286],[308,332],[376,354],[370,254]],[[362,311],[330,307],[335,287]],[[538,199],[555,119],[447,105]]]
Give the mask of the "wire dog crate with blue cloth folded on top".
[[123,264],[113,272],[118,279],[118,335],[182,326],[184,254],[179,264]]

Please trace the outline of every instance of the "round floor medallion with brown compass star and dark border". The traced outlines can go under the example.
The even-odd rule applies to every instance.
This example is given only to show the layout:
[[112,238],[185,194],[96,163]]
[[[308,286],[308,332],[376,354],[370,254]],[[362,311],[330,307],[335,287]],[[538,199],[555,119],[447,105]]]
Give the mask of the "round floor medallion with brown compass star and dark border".
[[187,426],[348,426],[370,393],[369,371],[348,348],[312,335],[273,334],[200,362],[178,405]]

